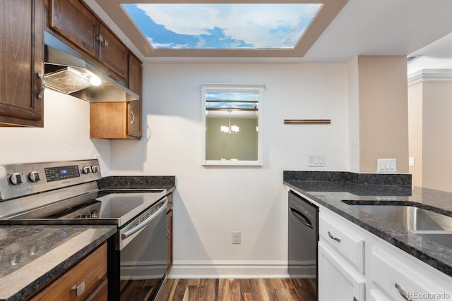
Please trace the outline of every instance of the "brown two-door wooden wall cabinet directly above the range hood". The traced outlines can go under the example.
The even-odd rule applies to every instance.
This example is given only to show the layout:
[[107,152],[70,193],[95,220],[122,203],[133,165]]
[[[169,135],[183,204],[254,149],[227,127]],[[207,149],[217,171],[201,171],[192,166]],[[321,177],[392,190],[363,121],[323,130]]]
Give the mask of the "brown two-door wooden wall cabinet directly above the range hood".
[[47,30],[126,82],[129,51],[81,0],[48,0]]

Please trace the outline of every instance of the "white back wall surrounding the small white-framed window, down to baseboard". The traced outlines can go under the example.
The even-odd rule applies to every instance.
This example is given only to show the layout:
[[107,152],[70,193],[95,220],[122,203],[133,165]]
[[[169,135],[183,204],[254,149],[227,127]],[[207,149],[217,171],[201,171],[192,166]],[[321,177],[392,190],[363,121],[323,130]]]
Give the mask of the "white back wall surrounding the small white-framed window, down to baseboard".
[[[318,170],[348,169],[346,73],[345,64],[144,66],[144,137],[112,141],[111,170],[177,176],[172,276],[287,273],[283,170],[313,169],[307,154],[325,154]],[[202,83],[266,85],[262,167],[201,166]],[[285,118],[331,125],[284,125]],[[242,231],[241,245],[231,244],[232,231]]]

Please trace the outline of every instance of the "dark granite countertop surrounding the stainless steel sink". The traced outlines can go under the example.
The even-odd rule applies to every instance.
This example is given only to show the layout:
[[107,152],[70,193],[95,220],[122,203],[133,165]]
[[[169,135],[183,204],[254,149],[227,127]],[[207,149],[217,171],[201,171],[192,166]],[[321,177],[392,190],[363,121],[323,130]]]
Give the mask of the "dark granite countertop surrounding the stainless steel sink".
[[[301,173],[285,171],[284,184],[422,262],[452,276],[452,249],[398,228],[342,202],[350,200],[359,201],[359,203],[378,201],[383,205],[408,204],[452,216],[452,193],[427,188],[413,188],[411,185],[406,185],[405,180],[407,179],[396,181],[398,185],[391,185],[389,184],[391,180],[384,179],[385,175],[379,175],[380,180],[362,183],[355,179],[351,182],[347,181],[346,177],[342,176],[336,178],[337,174],[331,176],[332,173],[328,172],[318,172],[310,176],[306,172]],[[408,183],[410,183],[410,179]]]

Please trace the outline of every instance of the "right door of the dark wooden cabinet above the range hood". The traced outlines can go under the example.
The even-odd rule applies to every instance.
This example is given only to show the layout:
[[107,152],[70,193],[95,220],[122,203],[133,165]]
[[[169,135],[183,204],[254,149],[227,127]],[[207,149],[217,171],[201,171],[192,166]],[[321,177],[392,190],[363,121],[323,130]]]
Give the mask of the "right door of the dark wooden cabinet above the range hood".
[[127,78],[127,61],[129,60],[126,47],[100,24],[100,55],[99,60],[110,70],[119,75],[120,80]]

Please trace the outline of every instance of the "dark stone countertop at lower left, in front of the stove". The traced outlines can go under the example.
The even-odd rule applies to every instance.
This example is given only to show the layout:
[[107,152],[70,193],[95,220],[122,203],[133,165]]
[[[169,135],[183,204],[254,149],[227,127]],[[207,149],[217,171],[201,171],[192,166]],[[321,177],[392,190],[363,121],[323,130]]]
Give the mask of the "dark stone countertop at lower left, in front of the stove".
[[114,225],[0,226],[0,300],[23,300],[116,231]]

